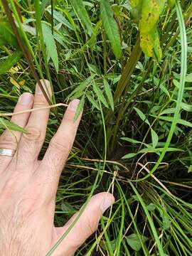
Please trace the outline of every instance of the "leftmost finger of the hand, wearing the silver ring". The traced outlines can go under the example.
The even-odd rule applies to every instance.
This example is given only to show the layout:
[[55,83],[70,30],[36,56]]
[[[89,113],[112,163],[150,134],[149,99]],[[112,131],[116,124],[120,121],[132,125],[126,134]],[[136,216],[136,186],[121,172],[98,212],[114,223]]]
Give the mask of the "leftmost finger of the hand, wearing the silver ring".
[[[23,93],[16,104],[14,109],[15,112],[22,112],[23,110],[30,110],[33,106],[33,95],[31,93],[25,92]],[[25,127],[28,122],[28,117],[30,116],[30,112],[16,114],[12,116],[11,122],[17,124],[20,127]],[[21,132],[13,132],[11,133],[9,130],[5,130],[0,137],[0,149],[12,149],[16,150],[17,144],[21,139]],[[0,163],[1,166],[3,164],[4,168],[8,166],[12,157],[0,155]]]

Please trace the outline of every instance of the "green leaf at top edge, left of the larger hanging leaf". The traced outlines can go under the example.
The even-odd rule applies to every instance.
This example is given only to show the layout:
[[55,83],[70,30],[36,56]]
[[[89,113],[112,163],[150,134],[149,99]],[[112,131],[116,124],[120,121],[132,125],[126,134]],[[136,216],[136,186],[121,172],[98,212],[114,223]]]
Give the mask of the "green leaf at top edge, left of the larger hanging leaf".
[[76,13],[78,14],[80,21],[82,21],[82,24],[86,26],[88,33],[92,34],[92,25],[90,21],[90,16],[87,14],[87,11],[85,9],[85,6],[83,4],[82,0],[71,0],[71,3],[73,4],[73,8],[75,9]]

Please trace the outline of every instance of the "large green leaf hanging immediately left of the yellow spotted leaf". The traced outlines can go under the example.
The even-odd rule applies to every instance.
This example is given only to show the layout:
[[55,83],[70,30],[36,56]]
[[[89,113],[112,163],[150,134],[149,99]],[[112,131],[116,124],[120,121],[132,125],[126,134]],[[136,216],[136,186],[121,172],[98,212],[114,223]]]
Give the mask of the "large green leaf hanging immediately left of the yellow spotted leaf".
[[102,18],[102,25],[105,28],[105,33],[112,45],[112,51],[115,57],[119,59],[122,55],[121,39],[119,35],[119,28],[114,20],[109,0],[100,0],[100,14]]

